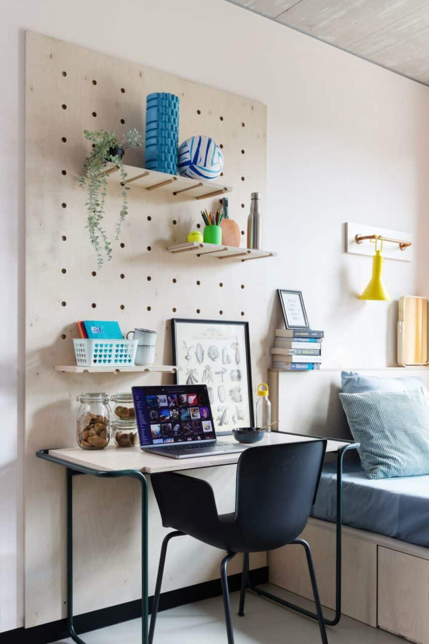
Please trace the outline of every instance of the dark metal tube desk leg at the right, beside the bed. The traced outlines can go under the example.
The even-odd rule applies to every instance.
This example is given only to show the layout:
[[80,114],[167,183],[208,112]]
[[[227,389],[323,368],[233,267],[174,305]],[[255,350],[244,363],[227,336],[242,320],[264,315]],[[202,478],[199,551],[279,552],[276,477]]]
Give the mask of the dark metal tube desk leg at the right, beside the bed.
[[[356,450],[356,444],[346,444],[344,447],[340,448],[337,451],[337,520],[336,520],[336,560],[335,560],[335,616],[333,620],[327,620],[323,618],[323,621],[328,626],[336,626],[341,619],[341,533],[342,533],[342,524],[343,524],[343,458],[347,450]],[[244,568],[248,566],[248,560],[244,560]],[[248,569],[247,569],[248,571]],[[247,574],[247,571],[243,569],[243,574]],[[271,592],[263,591],[262,589],[255,586],[247,574],[247,587],[256,592],[258,595],[262,595],[269,600],[276,601],[282,606],[285,606],[292,611],[301,613],[306,617],[310,617],[313,620],[318,619],[318,615],[315,612],[307,611],[306,609],[301,608],[290,601],[282,600],[280,597],[273,595]]]

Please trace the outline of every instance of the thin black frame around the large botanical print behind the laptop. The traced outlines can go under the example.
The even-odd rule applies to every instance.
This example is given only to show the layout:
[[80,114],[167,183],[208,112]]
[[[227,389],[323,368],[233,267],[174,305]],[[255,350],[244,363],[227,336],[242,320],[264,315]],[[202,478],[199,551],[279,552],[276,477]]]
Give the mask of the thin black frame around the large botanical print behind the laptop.
[[[243,335],[244,335],[244,342],[245,342],[245,360],[246,360],[246,365],[245,365],[245,373],[247,377],[247,397],[248,397],[248,404],[249,404],[249,426],[254,427],[254,406],[253,406],[253,385],[252,385],[252,365],[251,365],[251,350],[250,350],[250,334],[249,334],[249,322],[242,321],[242,320],[207,320],[207,319],[193,319],[193,318],[184,318],[184,317],[174,317],[171,319],[171,336],[172,336],[172,346],[173,346],[173,361],[175,366],[182,366],[182,368],[186,368],[185,365],[179,365],[178,364],[178,326],[181,324],[186,324],[186,325],[196,325],[202,326],[202,325],[209,325],[210,327],[227,327],[227,326],[238,326],[243,328]],[[231,364],[231,367],[234,366]],[[180,375],[179,372],[175,372],[175,383],[180,384]],[[182,383],[183,384],[183,383]],[[205,383],[203,383],[205,384]],[[212,407],[214,404],[212,404]],[[214,410],[213,410],[214,411]],[[215,417],[215,413],[213,414]],[[227,431],[224,431],[226,428],[222,428],[220,430],[218,427],[216,427],[216,434],[219,435],[226,435],[226,434],[231,434],[232,433],[232,428],[234,426],[240,426],[234,425],[233,423],[229,424],[229,428]]]

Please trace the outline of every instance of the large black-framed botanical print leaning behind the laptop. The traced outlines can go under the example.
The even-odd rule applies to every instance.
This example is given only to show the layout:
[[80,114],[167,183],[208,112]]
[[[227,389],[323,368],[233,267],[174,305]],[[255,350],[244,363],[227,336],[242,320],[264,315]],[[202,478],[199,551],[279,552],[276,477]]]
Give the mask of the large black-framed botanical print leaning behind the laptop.
[[177,384],[206,384],[218,433],[253,427],[249,323],[172,319]]

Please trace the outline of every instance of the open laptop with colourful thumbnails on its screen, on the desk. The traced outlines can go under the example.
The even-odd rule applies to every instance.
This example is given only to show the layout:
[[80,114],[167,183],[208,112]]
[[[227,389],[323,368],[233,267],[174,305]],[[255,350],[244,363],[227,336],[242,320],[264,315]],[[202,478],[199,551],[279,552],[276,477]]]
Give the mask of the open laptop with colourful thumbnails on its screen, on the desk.
[[216,439],[205,384],[133,387],[133,397],[143,451],[189,459],[246,449]]

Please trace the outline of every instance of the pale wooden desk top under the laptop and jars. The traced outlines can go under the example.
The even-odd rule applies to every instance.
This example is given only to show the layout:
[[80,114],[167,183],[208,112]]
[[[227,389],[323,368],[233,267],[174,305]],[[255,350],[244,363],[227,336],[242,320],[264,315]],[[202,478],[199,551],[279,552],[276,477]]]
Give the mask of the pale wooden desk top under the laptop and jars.
[[[222,436],[219,440],[236,444],[233,436]],[[249,448],[281,443],[303,442],[316,440],[311,436],[284,434],[272,431],[260,442],[250,445]],[[345,446],[347,442],[328,440],[327,451],[335,452]],[[178,471],[180,469],[211,468],[217,465],[234,464],[240,458],[240,452],[232,454],[218,454],[213,456],[197,456],[192,459],[170,459],[165,456],[149,454],[140,448],[118,448],[110,444],[104,450],[82,450],[79,446],[61,450],[49,450],[50,456],[70,462],[70,465],[80,465],[99,471],[118,471],[122,469],[135,469],[148,474],[158,472]]]

